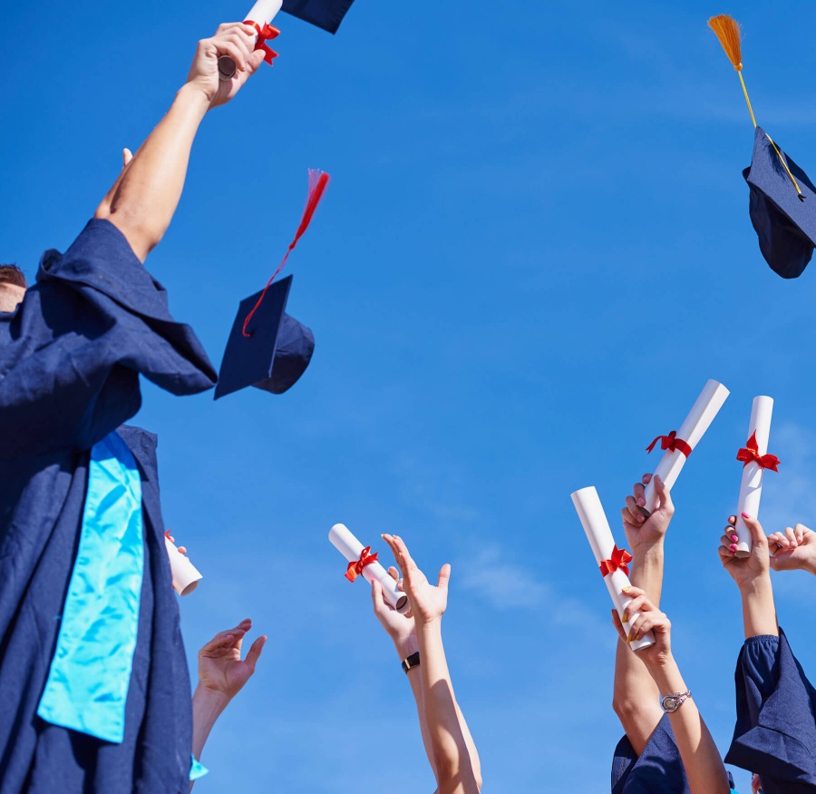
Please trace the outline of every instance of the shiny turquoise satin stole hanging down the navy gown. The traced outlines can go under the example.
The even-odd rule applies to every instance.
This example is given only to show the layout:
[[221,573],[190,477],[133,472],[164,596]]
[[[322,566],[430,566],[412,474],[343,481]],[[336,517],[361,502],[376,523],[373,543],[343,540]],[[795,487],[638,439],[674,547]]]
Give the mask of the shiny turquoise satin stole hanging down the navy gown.
[[46,722],[121,743],[143,570],[141,476],[111,433],[91,450],[79,549],[37,709]]

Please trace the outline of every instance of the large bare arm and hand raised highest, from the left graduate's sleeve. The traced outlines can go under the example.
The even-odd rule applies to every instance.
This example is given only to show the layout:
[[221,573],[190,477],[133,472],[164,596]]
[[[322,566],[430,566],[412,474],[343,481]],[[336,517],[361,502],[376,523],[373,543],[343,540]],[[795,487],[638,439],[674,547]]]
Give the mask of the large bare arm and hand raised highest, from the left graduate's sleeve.
[[[111,221],[141,261],[159,244],[170,226],[184,188],[189,152],[199,123],[210,108],[227,103],[263,60],[253,52],[254,28],[240,23],[220,25],[199,42],[187,81],[170,111],[151,132],[113,183],[95,217]],[[219,80],[219,55],[238,64],[231,80]]]

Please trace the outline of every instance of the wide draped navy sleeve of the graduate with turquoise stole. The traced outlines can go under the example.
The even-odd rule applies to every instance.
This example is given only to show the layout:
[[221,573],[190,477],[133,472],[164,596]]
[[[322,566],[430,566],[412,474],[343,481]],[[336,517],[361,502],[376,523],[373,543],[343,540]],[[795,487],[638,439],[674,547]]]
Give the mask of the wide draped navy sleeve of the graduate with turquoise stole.
[[110,221],[46,251],[0,329],[0,459],[89,448],[141,406],[139,375],[176,395],[216,373],[167,294]]

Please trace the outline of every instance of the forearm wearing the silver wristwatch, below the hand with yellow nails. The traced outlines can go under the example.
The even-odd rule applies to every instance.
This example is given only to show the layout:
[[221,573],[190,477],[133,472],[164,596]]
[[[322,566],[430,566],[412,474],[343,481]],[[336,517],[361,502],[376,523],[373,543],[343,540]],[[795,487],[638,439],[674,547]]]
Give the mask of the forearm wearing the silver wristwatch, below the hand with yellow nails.
[[[651,673],[661,696],[686,691],[674,659],[665,665],[653,666]],[[668,717],[691,794],[727,794],[731,789],[723,760],[694,699],[687,699]]]

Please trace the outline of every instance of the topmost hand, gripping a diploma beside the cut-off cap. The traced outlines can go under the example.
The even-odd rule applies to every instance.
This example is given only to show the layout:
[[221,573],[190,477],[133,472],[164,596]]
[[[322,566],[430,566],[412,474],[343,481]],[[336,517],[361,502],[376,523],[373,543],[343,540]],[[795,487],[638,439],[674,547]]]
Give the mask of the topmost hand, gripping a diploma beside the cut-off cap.
[[[216,34],[201,39],[187,76],[187,84],[198,88],[210,108],[228,103],[263,62],[262,50],[255,50],[255,28],[240,22],[219,25]],[[219,56],[229,55],[236,73],[229,80],[219,77]]]

